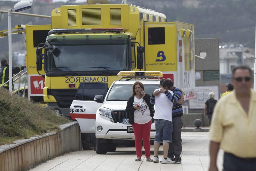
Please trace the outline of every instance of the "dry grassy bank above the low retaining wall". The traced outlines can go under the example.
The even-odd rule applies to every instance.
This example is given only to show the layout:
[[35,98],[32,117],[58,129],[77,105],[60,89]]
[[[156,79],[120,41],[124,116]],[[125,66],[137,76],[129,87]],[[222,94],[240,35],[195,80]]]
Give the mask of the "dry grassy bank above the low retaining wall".
[[58,116],[40,103],[10,95],[0,88],[0,145],[48,132],[59,132],[59,125],[71,120]]

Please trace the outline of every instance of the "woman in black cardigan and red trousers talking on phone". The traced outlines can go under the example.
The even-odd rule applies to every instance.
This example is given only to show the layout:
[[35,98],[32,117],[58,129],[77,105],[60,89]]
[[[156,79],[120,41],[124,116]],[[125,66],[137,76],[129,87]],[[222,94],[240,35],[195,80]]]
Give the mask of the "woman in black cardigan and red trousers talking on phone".
[[150,158],[150,131],[153,118],[153,107],[150,103],[150,95],[144,93],[144,85],[136,81],[132,85],[132,96],[127,101],[126,112],[130,113],[129,123],[135,136],[135,148],[137,159],[141,161],[142,139],[144,143],[145,154],[148,162],[153,162]]

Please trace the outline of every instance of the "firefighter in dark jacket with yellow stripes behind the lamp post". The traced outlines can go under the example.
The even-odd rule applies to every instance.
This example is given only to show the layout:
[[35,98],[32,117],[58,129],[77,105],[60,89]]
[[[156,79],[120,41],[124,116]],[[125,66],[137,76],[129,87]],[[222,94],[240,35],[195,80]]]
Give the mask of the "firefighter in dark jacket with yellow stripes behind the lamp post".
[[[13,67],[13,74],[19,73],[21,70],[26,68],[26,66]],[[6,59],[1,60],[0,67],[0,86],[2,86],[5,82],[9,80],[9,65]],[[2,86],[6,89],[9,89],[9,82]]]

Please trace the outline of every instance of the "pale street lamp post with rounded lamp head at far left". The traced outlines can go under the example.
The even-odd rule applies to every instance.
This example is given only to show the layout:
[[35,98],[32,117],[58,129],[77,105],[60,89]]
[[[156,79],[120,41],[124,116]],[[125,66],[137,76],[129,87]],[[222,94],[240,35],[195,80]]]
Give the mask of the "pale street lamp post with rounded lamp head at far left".
[[13,8],[8,9],[8,45],[9,45],[9,91],[13,92],[13,70],[12,70],[12,11],[19,12],[31,8],[32,4],[28,1],[20,1]]

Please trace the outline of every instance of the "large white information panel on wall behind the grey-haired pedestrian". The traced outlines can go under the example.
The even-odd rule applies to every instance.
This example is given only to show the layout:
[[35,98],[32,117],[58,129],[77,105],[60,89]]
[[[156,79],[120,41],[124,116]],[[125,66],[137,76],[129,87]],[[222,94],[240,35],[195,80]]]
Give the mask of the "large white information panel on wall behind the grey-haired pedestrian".
[[204,109],[205,102],[209,99],[208,94],[214,92],[216,100],[219,100],[219,86],[196,86],[196,98],[189,100],[189,109]]

